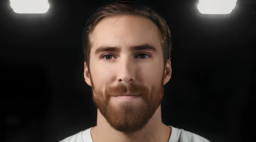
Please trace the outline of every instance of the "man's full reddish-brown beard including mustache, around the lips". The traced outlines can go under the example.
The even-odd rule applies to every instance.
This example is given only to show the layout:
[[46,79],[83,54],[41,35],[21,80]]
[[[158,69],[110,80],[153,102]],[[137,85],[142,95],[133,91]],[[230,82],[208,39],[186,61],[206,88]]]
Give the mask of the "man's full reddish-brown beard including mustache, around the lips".
[[[151,87],[151,90],[144,85],[120,83],[117,86],[106,87],[103,92],[94,88],[92,79],[91,83],[93,101],[100,113],[114,130],[126,134],[144,128],[163,101],[163,77],[157,85]],[[138,97],[141,97],[142,101],[136,104],[111,101],[111,97],[127,92],[140,94]]]

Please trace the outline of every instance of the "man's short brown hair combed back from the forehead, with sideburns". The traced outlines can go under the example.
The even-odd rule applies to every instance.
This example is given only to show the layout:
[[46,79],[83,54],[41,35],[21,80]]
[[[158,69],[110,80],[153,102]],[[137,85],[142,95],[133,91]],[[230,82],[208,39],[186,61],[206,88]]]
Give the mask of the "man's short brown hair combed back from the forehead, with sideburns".
[[155,25],[158,26],[160,43],[163,51],[163,62],[166,67],[167,60],[171,55],[171,32],[166,23],[166,20],[159,15],[156,11],[141,5],[136,2],[121,1],[114,2],[109,5],[100,7],[96,12],[89,17],[86,22],[86,26],[83,29],[83,51],[85,56],[85,62],[90,73],[90,51],[92,47],[92,34],[95,27],[102,21],[105,17],[116,16],[116,15],[138,15],[151,19]]

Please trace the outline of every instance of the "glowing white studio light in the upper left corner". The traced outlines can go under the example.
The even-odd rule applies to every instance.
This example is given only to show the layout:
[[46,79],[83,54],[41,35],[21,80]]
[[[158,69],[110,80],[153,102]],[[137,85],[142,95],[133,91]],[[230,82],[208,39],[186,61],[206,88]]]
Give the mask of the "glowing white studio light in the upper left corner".
[[19,14],[43,14],[50,8],[48,0],[10,0],[10,6]]

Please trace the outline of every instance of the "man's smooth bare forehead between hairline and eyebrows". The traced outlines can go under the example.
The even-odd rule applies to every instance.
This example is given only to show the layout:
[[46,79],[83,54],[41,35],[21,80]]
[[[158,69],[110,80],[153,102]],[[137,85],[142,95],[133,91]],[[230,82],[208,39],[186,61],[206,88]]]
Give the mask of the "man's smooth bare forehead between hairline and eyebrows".
[[[158,27],[142,16],[113,16],[102,20],[93,32],[93,48],[160,45]],[[150,46],[144,46],[150,47]]]

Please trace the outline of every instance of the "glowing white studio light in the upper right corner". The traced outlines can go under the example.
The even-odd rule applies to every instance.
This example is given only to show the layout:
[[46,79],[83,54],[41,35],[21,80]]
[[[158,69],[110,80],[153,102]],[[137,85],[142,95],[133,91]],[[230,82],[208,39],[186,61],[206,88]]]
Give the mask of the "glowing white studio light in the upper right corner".
[[198,10],[201,14],[230,14],[237,0],[199,0]]

